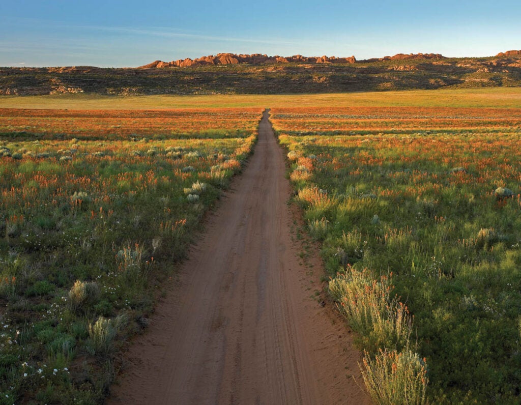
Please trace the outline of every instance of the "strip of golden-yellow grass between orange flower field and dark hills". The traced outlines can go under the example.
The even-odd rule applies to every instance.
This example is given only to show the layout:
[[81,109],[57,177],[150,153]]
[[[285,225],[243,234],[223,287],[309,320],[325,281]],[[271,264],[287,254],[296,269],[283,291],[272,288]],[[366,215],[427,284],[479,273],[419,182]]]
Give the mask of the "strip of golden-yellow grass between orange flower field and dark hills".
[[146,95],[108,96],[55,94],[0,97],[0,108],[49,109],[170,109],[170,108],[277,108],[345,106],[490,107],[519,108],[520,88],[412,90],[337,94],[288,95]]

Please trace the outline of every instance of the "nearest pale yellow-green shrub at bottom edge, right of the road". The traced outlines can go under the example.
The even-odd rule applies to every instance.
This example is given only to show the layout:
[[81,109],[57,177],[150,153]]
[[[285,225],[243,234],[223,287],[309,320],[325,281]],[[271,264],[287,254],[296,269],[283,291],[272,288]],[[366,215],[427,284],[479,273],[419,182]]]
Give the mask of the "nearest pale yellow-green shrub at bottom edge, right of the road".
[[380,350],[375,357],[365,352],[362,377],[374,403],[420,405],[426,403],[427,364],[410,350]]

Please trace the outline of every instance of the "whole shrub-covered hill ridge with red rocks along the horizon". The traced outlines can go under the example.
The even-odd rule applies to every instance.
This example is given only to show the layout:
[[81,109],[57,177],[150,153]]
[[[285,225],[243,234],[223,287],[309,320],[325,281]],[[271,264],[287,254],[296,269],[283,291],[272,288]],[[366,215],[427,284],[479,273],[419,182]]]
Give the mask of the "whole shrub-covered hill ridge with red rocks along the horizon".
[[484,58],[398,54],[268,57],[218,54],[139,68],[0,68],[0,94],[290,94],[521,85],[521,52]]

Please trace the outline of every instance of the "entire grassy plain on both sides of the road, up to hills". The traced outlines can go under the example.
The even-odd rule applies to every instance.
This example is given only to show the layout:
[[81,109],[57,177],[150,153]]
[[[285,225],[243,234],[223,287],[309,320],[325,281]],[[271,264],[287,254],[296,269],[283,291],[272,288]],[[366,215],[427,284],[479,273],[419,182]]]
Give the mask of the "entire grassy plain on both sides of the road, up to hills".
[[521,89],[493,88],[0,97],[3,403],[103,397],[265,107],[335,298],[388,287],[344,302],[365,360],[427,371],[432,402],[518,402]]

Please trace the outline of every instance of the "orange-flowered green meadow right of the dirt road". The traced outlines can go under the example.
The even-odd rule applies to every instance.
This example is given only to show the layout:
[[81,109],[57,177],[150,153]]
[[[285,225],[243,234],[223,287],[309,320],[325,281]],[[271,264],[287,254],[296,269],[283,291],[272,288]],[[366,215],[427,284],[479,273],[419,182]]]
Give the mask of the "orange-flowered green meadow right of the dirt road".
[[271,111],[377,403],[521,400],[521,105],[483,104]]

